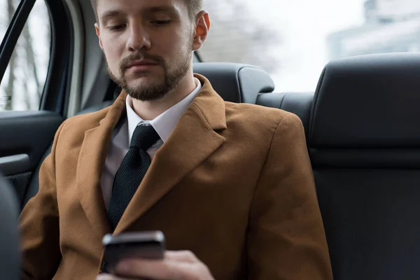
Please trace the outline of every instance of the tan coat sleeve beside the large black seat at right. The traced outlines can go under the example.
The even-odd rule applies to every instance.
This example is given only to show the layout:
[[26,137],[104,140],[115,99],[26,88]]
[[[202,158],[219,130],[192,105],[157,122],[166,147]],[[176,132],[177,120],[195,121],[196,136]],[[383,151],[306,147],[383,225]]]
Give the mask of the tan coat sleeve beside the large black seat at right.
[[274,132],[251,204],[248,279],[329,280],[332,269],[302,123]]

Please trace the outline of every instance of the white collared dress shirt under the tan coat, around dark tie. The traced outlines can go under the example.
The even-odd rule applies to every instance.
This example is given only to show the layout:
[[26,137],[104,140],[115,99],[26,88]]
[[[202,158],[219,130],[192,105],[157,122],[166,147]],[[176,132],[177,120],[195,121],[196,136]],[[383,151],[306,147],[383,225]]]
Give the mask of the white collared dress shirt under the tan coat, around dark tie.
[[130,142],[137,125],[152,125],[160,136],[160,139],[147,150],[147,153],[153,160],[156,151],[158,151],[165,141],[167,141],[183,113],[202,89],[200,80],[197,78],[195,78],[195,84],[197,87],[193,92],[181,100],[181,102],[160,114],[160,116],[154,120],[141,119],[132,109],[132,98],[127,96],[125,102],[125,106],[127,107],[127,118],[121,120],[113,130],[111,145],[109,146],[109,151],[106,155],[104,171],[102,172],[101,177],[101,188],[102,193],[104,194],[106,208],[108,208],[109,201],[111,200],[114,177],[116,176],[121,162],[123,162],[125,154],[130,149]]

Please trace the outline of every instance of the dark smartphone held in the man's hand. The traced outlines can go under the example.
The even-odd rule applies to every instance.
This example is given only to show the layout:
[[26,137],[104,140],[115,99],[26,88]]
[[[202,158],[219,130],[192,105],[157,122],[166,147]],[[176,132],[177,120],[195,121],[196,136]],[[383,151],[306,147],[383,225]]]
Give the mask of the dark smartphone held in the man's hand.
[[163,259],[165,253],[165,235],[155,232],[130,232],[120,235],[105,235],[102,239],[105,247],[102,272],[115,274],[116,265],[127,258]]

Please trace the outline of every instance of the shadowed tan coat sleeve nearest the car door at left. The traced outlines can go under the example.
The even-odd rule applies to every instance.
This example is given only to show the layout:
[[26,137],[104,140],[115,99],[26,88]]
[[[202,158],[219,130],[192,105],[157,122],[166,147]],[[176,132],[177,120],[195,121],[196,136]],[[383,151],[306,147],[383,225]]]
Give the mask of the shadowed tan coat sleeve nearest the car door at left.
[[62,258],[55,181],[55,151],[64,123],[55,134],[51,153],[39,172],[39,190],[19,217],[22,279],[52,279]]

